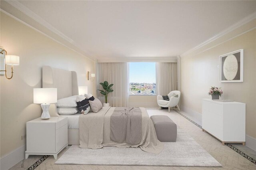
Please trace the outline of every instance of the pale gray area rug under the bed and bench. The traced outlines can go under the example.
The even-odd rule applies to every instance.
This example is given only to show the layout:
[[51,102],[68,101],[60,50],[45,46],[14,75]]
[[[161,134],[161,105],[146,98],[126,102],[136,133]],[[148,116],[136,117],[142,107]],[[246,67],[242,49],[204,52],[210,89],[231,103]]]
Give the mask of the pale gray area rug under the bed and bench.
[[79,148],[78,145],[72,145],[55,164],[222,166],[181,129],[178,129],[177,141],[164,142],[164,149],[160,154],[144,152],[140,148],[85,149]]

